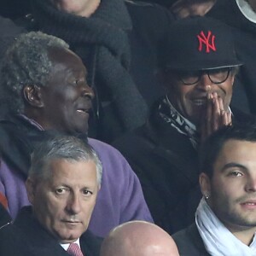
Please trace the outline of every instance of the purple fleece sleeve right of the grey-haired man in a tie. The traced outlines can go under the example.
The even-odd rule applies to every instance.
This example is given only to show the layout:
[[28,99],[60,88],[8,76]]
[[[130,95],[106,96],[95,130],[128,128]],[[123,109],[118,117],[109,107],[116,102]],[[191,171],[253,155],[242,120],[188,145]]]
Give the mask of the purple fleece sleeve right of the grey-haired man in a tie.
[[106,236],[113,227],[130,220],[153,222],[141,184],[124,156],[106,143],[95,139],[89,139],[89,143],[103,166],[102,188],[89,229],[97,236]]

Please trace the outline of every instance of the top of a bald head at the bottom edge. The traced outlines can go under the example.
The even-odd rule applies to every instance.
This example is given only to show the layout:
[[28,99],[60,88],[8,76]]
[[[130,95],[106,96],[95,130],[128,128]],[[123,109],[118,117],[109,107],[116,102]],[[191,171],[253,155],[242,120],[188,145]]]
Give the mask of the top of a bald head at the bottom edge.
[[155,224],[131,221],[113,229],[102,243],[101,256],[178,256],[177,246]]

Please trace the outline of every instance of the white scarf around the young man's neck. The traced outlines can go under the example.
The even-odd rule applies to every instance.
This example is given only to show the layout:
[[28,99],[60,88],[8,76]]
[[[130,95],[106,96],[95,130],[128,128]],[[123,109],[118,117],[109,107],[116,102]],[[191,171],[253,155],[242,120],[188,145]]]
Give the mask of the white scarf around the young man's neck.
[[222,224],[202,198],[195,212],[195,224],[208,253],[212,256],[255,256],[256,239],[248,247]]

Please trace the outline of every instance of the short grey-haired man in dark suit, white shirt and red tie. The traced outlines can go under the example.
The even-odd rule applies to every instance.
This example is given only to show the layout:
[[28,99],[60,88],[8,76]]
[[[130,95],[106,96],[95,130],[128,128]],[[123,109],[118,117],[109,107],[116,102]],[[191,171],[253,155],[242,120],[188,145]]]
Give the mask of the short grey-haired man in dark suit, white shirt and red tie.
[[40,143],[26,180],[32,206],[0,230],[0,254],[98,255],[101,240],[86,230],[101,181],[102,163],[84,141],[56,136]]

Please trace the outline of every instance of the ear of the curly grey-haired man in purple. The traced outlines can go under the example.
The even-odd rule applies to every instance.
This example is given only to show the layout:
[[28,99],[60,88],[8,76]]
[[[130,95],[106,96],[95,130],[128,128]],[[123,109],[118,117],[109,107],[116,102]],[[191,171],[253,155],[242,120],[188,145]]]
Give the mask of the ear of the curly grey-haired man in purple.
[[23,95],[27,104],[38,108],[44,107],[41,87],[38,85],[25,85],[23,88]]

